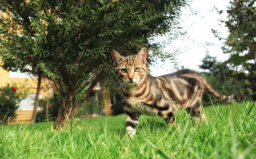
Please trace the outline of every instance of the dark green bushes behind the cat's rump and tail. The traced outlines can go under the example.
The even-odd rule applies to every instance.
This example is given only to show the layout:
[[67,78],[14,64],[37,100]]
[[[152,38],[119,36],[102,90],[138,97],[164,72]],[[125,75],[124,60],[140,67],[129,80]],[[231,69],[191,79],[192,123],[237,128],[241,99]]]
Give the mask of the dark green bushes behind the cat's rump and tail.
[[[207,53],[207,52],[206,52]],[[235,94],[236,101],[242,101],[246,97],[253,99],[255,94],[254,75],[250,75],[243,70],[234,69],[228,61],[218,62],[216,57],[211,57],[208,53],[202,60],[203,64],[199,67],[206,80],[211,86],[224,95]],[[211,98],[214,104],[220,100]],[[253,99],[255,100],[255,99]],[[207,94],[203,95],[203,105],[211,105],[210,98]]]

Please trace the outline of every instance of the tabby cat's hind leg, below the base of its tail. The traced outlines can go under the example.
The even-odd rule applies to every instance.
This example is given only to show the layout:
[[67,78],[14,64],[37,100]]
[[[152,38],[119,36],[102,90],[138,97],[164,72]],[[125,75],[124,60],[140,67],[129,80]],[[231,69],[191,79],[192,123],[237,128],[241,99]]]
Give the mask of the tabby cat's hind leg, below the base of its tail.
[[202,102],[200,100],[198,100],[191,107],[187,107],[186,110],[195,123],[200,122],[200,120],[206,119],[205,114],[202,112]]

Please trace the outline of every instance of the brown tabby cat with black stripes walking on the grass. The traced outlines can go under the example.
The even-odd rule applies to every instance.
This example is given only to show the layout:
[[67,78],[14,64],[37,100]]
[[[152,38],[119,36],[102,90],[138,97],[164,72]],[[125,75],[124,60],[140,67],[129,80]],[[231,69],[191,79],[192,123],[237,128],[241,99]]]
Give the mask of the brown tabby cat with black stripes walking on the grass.
[[145,47],[136,56],[122,57],[115,50],[111,54],[125,104],[126,131],[131,137],[135,135],[140,114],[159,115],[173,126],[174,112],[179,107],[187,110],[194,122],[199,122],[205,119],[202,112],[204,90],[224,101],[232,99],[232,95],[221,94],[200,73],[192,70],[151,76],[146,72]]

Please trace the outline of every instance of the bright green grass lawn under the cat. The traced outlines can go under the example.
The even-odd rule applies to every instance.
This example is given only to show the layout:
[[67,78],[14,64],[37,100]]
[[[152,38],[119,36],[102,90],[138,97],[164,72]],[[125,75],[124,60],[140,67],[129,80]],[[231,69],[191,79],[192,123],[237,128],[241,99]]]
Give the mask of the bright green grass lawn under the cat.
[[0,126],[0,158],[256,158],[255,102],[204,107],[208,122],[194,124],[185,111],[169,128],[141,116],[134,138],[125,116],[72,121],[62,131],[52,122]]

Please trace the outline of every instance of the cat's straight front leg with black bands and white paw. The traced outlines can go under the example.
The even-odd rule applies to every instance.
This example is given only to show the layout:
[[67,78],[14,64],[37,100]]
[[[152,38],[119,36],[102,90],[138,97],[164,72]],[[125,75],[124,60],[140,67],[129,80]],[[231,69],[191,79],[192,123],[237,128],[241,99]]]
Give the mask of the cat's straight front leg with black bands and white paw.
[[136,133],[136,126],[139,124],[139,114],[126,111],[126,133],[133,137]]

